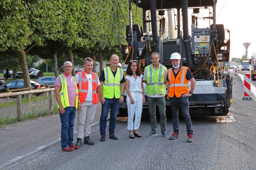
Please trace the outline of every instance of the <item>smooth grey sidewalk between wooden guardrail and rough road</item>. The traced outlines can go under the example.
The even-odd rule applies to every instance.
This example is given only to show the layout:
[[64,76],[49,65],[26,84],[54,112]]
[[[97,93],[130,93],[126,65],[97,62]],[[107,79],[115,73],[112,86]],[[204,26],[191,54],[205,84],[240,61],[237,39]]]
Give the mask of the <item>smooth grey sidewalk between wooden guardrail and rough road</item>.
[[[26,109],[23,104],[23,110]],[[16,106],[0,108],[0,112],[16,113]],[[1,114],[3,115],[3,114]],[[99,124],[101,103],[98,103],[92,125]],[[109,116],[108,116],[109,118]],[[77,117],[74,133],[77,131]],[[0,169],[38,150],[60,141],[61,121],[59,114],[25,120],[0,128]],[[76,140],[76,136],[74,137]],[[60,146],[61,148],[61,146]]]

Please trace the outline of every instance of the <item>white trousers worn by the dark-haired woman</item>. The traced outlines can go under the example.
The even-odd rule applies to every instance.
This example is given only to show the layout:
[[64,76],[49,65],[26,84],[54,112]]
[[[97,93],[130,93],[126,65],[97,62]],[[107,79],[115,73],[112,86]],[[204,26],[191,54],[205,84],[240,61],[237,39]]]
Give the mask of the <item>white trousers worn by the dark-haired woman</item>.
[[[140,126],[140,118],[142,113],[143,95],[141,92],[131,92],[131,97],[134,99],[134,104],[131,104],[130,98],[127,95],[126,102],[128,108],[128,130],[138,130]],[[134,119],[135,113],[135,119]]]

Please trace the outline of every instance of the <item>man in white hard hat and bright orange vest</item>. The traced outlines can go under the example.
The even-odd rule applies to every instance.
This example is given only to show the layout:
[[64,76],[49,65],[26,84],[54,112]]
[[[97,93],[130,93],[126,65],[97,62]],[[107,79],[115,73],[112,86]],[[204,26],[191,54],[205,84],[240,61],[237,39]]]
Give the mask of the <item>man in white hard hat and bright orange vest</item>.
[[[180,110],[186,122],[186,131],[188,135],[187,142],[193,142],[192,121],[189,116],[189,96],[192,96],[195,90],[195,79],[188,67],[180,66],[180,54],[173,53],[171,55],[172,67],[167,71],[167,91],[172,109],[172,126],[173,133],[169,138],[175,140],[179,136],[179,105]],[[191,89],[189,91],[189,81],[191,82]]]

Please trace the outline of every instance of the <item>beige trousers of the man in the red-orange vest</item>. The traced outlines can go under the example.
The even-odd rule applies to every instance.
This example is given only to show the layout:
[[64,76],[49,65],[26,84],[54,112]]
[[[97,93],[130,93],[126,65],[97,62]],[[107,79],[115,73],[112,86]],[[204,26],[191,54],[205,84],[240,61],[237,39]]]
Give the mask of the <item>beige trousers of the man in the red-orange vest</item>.
[[85,101],[81,103],[81,111],[77,111],[77,138],[83,139],[84,136],[89,136],[92,122],[94,120],[97,104],[93,101]]

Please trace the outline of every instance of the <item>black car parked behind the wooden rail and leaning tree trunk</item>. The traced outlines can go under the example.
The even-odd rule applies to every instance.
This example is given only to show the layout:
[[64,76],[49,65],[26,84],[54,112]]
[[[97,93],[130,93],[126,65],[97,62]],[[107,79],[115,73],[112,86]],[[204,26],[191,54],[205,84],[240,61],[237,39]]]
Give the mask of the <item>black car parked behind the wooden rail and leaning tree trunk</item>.
[[[32,89],[37,89],[37,88],[44,88],[45,85],[41,85],[38,82],[34,82],[30,80]],[[0,93],[6,92],[6,88],[9,88],[9,90],[13,89],[22,89],[24,88],[24,81],[23,80],[13,80],[11,82],[7,82],[5,85],[0,86]]]

